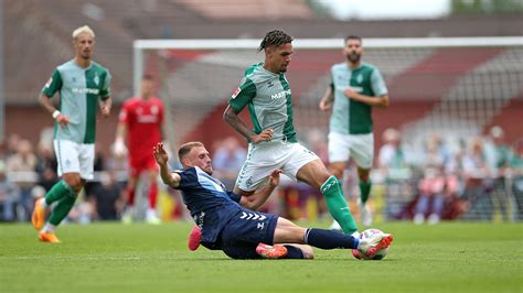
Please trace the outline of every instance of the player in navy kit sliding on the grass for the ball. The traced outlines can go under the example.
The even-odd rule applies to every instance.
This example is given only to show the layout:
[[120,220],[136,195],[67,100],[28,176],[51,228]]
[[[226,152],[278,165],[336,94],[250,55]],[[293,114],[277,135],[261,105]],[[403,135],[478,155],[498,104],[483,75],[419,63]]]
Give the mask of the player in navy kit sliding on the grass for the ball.
[[[201,142],[180,146],[178,156],[183,170],[171,172],[162,143],[153,149],[160,176],[167,185],[182,192],[183,203],[202,231],[202,246],[223,250],[233,259],[311,259],[312,249],[357,249],[372,257],[393,241],[388,234],[363,240],[332,230],[306,229],[275,215],[257,213],[279,183],[281,170],[269,173],[269,182],[257,193],[241,196],[225,189],[212,177],[211,156]],[[238,204],[239,203],[239,204]],[[242,206],[241,206],[242,205]]]

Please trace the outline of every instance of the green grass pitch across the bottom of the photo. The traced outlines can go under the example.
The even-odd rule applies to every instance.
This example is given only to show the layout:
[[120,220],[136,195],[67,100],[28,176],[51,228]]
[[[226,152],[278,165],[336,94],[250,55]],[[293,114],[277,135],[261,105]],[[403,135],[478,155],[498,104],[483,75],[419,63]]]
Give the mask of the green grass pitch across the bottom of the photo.
[[[327,227],[330,223],[300,223]],[[231,260],[186,249],[189,223],[66,225],[60,245],[0,225],[0,292],[521,292],[523,224],[377,225],[383,261],[314,249],[316,259]]]

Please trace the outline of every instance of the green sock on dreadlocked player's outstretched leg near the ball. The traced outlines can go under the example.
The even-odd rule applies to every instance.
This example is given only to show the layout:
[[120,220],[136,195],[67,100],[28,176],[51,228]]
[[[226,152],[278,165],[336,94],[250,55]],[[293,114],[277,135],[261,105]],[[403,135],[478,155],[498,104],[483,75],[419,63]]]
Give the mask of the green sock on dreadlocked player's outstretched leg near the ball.
[[351,209],[346,204],[340,183],[334,176],[330,176],[320,188],[325,198],[327,207],[332,217],[340,224],[345,234],[357,231],[356,223],[352,217]]

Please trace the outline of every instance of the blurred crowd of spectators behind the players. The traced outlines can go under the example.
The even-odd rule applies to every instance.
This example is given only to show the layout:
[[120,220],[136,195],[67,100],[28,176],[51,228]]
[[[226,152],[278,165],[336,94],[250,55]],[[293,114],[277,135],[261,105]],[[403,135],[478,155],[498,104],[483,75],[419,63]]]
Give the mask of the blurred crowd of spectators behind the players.
[[[11,134],[0,144],[0,221],[28,221],[34,200],[57,181],[56,159],[49,135],[38,145]],[[375,158],[372,173],[376,186],[371,203],[383,219],[412,219],[415,224],[437,224],[441,219],[480,219],[513,221],[523,219],[523,139],[509,144],[503,130],[492,127],[483,137],[446,141],[433,133],[424,148],[402,140],[402,133],[387,129]],[[327,161],[325,138],[309,131],[305,144]],[[235,174],[245,160],[246,149],[235,137],[224,138],[212,146],[215,175],[233,186]],[[174,166],[175,167],[175,166]],[[345,188],[355,206],[359,188],[353,165],[345,172]],[[127,164],[121,158],[97,151],[95,181],[85,186],[68,221],[119,220],[125,208],[124,189]],[[183,217],[180,196],[171,195],[174,207],[163,219]],[[301,183],[282,178],[262,210],[290,219],[328,215],[318,192]],[[178,202],[178,204],[177,204]],[[164,205],[161,200],[157,208]]]

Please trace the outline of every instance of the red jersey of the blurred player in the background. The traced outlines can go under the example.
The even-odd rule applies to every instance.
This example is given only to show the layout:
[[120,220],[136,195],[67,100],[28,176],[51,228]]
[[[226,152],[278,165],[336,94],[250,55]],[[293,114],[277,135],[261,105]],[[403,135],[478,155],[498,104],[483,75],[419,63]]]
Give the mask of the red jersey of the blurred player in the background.
[[130,161],[140,161],[152,156],[152,146],[161,142],[163,104],[157,97],[143,100],[132,97],[121,106],[119,122],[127,124],[127,148]]

